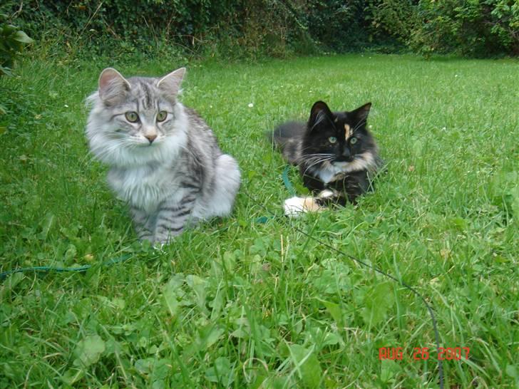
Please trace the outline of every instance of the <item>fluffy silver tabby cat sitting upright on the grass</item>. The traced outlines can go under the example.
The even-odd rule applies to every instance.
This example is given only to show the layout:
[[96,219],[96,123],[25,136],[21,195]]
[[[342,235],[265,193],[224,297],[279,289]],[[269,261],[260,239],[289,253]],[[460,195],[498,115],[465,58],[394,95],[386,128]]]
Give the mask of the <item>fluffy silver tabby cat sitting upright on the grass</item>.
[[108,183],[130,204],[140,239],[158,244],[187,222],[229,214],[240,187],[237,162],[178,101],[184,75],[126,79],[107,68],[87,99],[91,151],[110,165]]

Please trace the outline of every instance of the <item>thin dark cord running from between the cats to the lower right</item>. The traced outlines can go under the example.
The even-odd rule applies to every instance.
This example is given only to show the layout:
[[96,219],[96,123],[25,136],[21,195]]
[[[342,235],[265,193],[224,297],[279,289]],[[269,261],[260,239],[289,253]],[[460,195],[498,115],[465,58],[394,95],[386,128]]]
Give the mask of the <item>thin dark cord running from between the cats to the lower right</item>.
[[[259,205],[260,208],[264,209],[265,212],[268,212],[273,217],[277,216],[276,214],[274,214],[274,212],[271,212],[269,209],[267,209],[267,207],[265,207],[263,204],[261,204],[260,202],[257,202],[257,200],[254,197],[252,197],[245,190],[242,190],[242,193],[244,193],[245,196],[249,197],[249,199],[251,199],[252,202],[254,202],[255,204]],[[345,251],[342,251],[340,249],[336,249],[336,247],[333,247],[331,244],[329,244],[327,242],[324,242],[324,241],[322,241],[319,238],[313,237],[311,234],[308,234],[307,232],[304,232],[302,229],[299,229],[298,227],[294,226],[293,224],[289,224],[289,225],[295,231],[299,232],[300,234],[303,234],[305,237],[307,237],[309,239],[314,240],[314,242],[317,242],[318,244],[321,244],[322,246],[327,247],[328,249],[331,249],[331,250],[336,251],[337,253],[339,253],[341,255],[346,256],[346,258],[351,259],[351,261],[355,261],[357,264],[360,264],[361,266],[367,267],[368,269],[376,271],[376,273],[379,273],[379,274],[381,274],[383,276],[386,276],[387,278],[395,281],[396,283],[400,284],[401,286],[404,286],[404,288],[412,291],[413,294],[418,296],[421,299],[421,301],[423,301],[423,304],[426,305],[427,311],[429,312],[429,315],[431,316],[431,321],[432,321],[433,330],[434,330],[434,338],[435,338],[435,343],[436,343],[436,352],[437,353],[440,352],[440,334],[438,333],[438,326],[436,325],[436,316],[434,316],[433,308],[431,307],[430,304],[428,304],[428,302],[426,301],[425,297],[423,297],[423,295],[420,292],[418,292],[416,289],[414,289],[413,286],[407,284],[404,281],[401,281],[401,280],[397,279],[394,276],[391,276],[391,274],[386,273],[384,270],[381,270],[381,269],[377,268],[376,266],[372,266],[370,264],[366,264],[366,262],[361,261],[360,259],[356,258],[356,256],[348,254]],[[442,363],[440,358],[438,358],[438,377],[439,377],[439,380],[440,380],[440,389],[443,389],[443,363]]]

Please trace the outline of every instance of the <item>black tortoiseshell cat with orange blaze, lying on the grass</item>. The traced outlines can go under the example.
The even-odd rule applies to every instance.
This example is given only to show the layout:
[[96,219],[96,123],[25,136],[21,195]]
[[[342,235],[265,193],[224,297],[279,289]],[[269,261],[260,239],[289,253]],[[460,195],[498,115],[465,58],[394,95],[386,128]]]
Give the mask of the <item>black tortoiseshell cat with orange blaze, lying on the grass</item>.
[[[382,166],[376,142],[366,128],[371,103],[351,112],[332,112],[317,101],[308,123],[279,125],[273,138],[284,158],[299,166],[304,186],[322,202],[356,202],[373,188],[371,179]],[[329,194],[332,191],[332,194]]]

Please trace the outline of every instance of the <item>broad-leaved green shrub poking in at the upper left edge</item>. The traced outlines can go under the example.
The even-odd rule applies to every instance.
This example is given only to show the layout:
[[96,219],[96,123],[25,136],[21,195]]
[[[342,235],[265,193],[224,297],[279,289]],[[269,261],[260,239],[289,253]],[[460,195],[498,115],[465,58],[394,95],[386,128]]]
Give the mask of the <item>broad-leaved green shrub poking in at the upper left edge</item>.
[[16,56],[32,39],[20,28],[9,24],[9,16],[0,14],[0,76],[11,76]]

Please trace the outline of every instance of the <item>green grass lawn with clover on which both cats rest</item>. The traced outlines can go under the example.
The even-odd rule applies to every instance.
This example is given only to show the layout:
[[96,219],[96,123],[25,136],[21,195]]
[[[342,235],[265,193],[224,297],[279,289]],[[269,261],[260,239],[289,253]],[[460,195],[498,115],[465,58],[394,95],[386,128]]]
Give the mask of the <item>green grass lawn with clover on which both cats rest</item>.
[[[136,241],[88,155],[83,99],[111,65],[37,60],[0,79],[0,271],[93,265],[0,284],[0,388],[438,387],[423,302],[293,227],[426,296],[442,346],[470,348],[443,362],[446,388],[518,387],[518,61],[192,63],[183,102],[240,162],[242,192],[231,217],[165,252]],[[373,103],[388,174],[357,207],[255,222],[289,196],[264,131],[318,99]],[[121,254],[133,257],[98,266]],[[404,360],[379,361],[382,346]],[[411,360],[416,347],[428,361]]]

